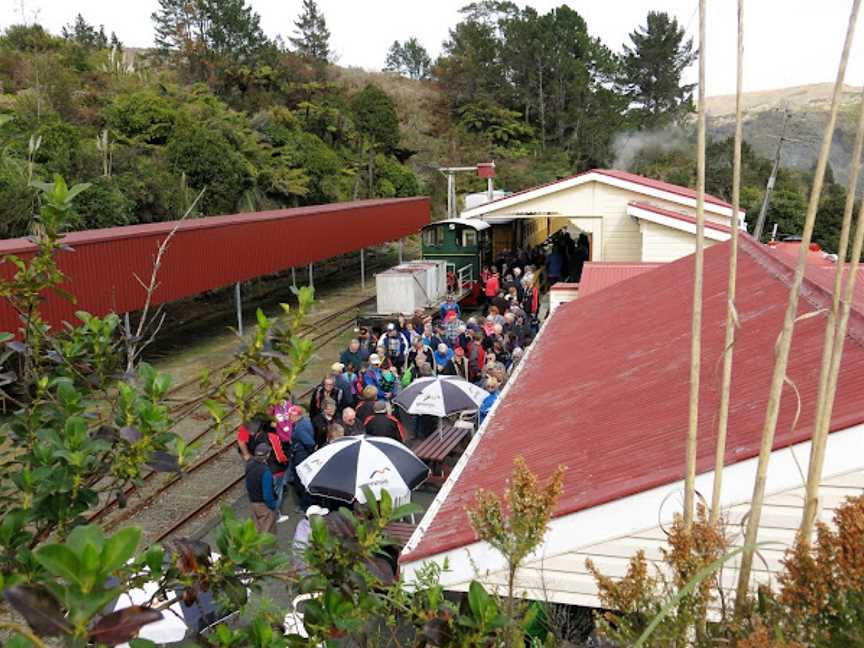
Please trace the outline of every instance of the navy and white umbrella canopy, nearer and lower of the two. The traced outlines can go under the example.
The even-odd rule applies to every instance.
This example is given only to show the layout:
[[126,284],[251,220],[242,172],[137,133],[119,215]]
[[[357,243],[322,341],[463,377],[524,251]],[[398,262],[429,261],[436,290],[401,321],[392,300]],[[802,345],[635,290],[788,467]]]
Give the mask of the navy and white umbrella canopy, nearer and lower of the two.
[[334,439],[297,466],[297,476],[312,495],[365,502],[363,486],[376,497],[382,490],[404,497],[426,481],[429,467],[398,441],[364,435]]

